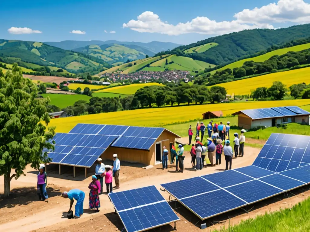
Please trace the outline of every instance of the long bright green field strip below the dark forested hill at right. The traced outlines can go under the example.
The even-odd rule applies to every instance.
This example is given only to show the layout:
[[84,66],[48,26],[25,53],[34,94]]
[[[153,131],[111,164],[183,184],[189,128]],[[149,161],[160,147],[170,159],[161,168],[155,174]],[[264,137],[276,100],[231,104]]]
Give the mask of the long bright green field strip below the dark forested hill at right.
[[263,54],[263,55],[260,55],[260,56],[256,56],[256,57],[253,57],[253,58],[247,58],[247,59],[243,59],[243,60],[239,60],[239,61],[236,61],[236,62],[233,62],[231,64],[228,64],[222,68],[219,68],[219,69],[216,69],[214,71],[211,71],[210,73],[211,74],[214,74],[216,71],[221,71],[221,70],[224,70],[224,69],[227,69],[227,68],[230,68],[231,70],[233,68],[237,68],[237,67],[241,67],[244,62],[246,61],[255,61],[255,62],[263,62],[265,60],[268,60],[270,57],[274,56],[274,55],[283,55],[283,54],[286,54],[288,52],[298,52],[298,51],[302,51],[302,50],[305,50],[305,49],[309,49],[310,48],[310,43],[308,44],[302,44],[302,45],[297,45],[297,46],[293,46],[293,47],[290,47],[290,48],[282,48],[282,49],[277,49],[277,50],[274,50],[274,51],[271,51],[271,52],[268,52],[266,54]]

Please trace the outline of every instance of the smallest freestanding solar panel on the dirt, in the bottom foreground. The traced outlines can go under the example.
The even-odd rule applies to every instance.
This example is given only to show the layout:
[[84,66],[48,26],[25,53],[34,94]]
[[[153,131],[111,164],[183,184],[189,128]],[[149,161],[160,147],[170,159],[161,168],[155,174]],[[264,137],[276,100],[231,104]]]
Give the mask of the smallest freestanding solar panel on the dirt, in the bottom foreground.
[[108,196],[127,232],[149,230],[180,220],[155,186]]

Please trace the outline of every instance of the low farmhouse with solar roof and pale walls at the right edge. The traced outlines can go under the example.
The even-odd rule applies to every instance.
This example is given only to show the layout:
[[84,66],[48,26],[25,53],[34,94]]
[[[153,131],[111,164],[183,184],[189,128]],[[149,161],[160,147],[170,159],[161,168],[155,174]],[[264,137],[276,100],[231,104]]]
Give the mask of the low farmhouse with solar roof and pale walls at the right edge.
[[275,127],[290,122],[310,125],[310,113],[297,106],[240,110],[232,115],[238,115],[238,126],[244,129]]

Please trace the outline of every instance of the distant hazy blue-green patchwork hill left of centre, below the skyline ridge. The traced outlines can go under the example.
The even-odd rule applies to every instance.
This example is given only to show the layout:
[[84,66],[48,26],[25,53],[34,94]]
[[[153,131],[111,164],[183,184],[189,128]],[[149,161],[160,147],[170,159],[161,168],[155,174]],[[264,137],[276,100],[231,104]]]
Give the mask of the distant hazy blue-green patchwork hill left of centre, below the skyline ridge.
[[127,60],[143,59],[146,55],[153,56],[155,54],[138,45],[119,44],[104,44],[100,46],[93,44],[83,48],[73,49],[73,51],[89,54],[110,64],[117,63],[118,65]]

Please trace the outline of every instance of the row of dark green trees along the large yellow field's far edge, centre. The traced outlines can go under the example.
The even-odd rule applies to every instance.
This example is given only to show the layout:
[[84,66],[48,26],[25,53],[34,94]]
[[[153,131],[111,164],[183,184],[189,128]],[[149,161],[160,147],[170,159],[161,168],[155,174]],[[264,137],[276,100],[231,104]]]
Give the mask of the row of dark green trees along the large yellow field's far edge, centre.
[[[87,88],[87,87],[86,87]],[[78,89],[76,90],[78,91]],[[86,90],[84,89],[84,92]],[[226,90],[223,87],[188,84],[168,84],[164,86],[146,86],[137,90],[135,95],[128,97],[92,97],[88,102],[79,100],[72,106],[64,109],[66,113],[77,116],[83,114],[99,114],[120,110],[138,109],[140,107],[152,107],[174,104],[190,103],[202,104],[204,102],[220,102],[226,98]],[[55,106],[49,106],[49,111],[59,111]]]

